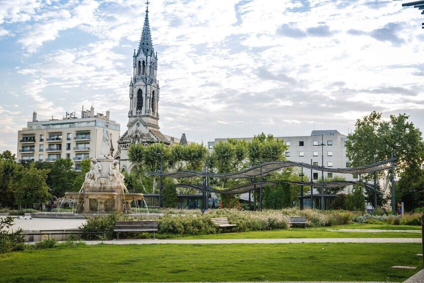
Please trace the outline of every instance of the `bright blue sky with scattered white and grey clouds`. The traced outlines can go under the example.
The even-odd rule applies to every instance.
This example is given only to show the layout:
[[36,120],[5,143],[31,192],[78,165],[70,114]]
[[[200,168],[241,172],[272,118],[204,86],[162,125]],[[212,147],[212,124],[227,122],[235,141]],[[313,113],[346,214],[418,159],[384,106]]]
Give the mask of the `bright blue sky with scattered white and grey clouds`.
[[[93,105],[125,132],[144,2],[0,0],[0,152],[16,153],[33,111]],[[161,131],[347,134],[374,110],[424,131],[424,16],[406,2],[151,0]]]

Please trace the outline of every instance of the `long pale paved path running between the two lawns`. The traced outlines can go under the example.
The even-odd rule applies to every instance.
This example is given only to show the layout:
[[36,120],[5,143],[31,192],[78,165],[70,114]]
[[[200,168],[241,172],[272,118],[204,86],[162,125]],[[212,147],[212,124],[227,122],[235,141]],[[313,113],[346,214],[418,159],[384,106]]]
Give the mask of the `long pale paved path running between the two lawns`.
[[[86,241],[98,244],[102,241]],[[213,240],[159,240],[124,239],[103,241],[105,244],[273,244],[273,243],[420,243],[419,238],[291,238],[291,239],[213,239]]]

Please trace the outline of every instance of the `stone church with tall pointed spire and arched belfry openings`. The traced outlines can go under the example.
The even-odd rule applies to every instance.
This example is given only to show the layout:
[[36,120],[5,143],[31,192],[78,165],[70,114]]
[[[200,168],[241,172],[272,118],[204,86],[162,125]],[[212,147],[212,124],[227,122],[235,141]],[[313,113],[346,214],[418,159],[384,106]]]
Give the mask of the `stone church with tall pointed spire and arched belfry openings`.
[[149,26],[149,7],[146,9],[143,31],[137,52],[133,55],[133,77],[130,80],[130,111],[128,130],[118,139],[115,159],[120,159],[122,170],[131,171],[133,164],[128,160],[132,144],[149,145],[162,142],[169,146],[174,143],[187,145],[185,134],[181,139],[164,135],[159,128],[160,87],[157,79],[158,53],[152,44]]

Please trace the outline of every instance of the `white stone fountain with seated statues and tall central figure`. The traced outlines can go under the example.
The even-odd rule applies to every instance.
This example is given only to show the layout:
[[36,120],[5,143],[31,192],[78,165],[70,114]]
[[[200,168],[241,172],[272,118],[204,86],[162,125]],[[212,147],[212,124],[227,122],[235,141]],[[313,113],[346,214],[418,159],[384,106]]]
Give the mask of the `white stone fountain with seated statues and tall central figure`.
[[119,160],[114,160],[111,155],[110,137],[108,129],[104,128],[101,154],[91,160],[91,170],[86,174],[80,192],[65,193],[66,198],[77,200],[76,213],[132,213],[131,202],[143,199],[141,193],[128,193],[124,175],[119,172]]

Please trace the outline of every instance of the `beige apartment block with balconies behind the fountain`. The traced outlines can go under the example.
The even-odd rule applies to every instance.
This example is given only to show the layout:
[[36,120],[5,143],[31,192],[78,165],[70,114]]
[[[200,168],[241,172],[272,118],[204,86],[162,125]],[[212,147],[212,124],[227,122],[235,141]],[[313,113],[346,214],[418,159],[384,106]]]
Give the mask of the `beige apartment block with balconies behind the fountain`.
[[27,127],[18,131],[17,161],[48,161],[70,158],[74,169],[81,170],[80,162],[86,158],[96,158],[100,154],[103,129],[108,128],[111,134],[112,148],[118,148],[120,125],[110,120],[110,112],[106,115],[95,113],[94,107],[81,111],[81,117],[74,113],[66,113],[62,119],[33,120]]

